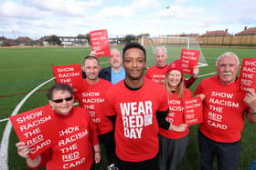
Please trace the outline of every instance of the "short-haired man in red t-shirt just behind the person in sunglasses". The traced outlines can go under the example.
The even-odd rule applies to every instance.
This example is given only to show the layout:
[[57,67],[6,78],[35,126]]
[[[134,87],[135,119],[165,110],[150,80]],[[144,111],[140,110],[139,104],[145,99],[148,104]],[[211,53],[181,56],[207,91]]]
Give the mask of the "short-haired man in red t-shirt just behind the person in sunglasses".
[[104,115],[102,106],[106,102],[106,91],[112,86],[112,83],[99,78],[101,65],[95,56],[85,57],[82,69],[86,74],[86,79],[83,79],[83,90],[78,95],[79,105],[88,110],[92,122],[97,127],[100,142],[106,148],[108,167],[114,170],[113,125],[110,119]]

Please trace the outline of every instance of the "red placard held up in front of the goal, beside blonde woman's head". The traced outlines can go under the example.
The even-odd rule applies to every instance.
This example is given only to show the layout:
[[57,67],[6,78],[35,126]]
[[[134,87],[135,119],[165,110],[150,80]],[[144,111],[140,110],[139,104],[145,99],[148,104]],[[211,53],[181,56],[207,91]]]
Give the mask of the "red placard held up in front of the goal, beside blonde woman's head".
[[193,68],[197,66],[199,55],[200,51],[198,50],[181,50],[180,60],[185,74],[193,75]]

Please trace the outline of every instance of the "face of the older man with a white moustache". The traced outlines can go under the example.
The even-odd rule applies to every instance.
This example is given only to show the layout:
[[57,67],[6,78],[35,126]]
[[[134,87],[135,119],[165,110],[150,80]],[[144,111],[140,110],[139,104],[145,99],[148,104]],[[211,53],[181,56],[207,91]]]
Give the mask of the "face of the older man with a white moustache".
[[221,85],[229,85],[236,80],[239,71],[239,63],[235,56],[224,55],[219,58],[219,63],[216,65]]

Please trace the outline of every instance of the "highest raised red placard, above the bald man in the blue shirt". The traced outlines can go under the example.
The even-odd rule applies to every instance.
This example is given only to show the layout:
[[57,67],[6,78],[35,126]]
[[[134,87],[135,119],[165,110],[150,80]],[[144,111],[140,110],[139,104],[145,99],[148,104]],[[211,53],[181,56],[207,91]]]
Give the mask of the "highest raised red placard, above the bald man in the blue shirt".
[[91,51],[94,51],[97,57],[111,55],[108,32],[106,29],[91,31],[90,38]]

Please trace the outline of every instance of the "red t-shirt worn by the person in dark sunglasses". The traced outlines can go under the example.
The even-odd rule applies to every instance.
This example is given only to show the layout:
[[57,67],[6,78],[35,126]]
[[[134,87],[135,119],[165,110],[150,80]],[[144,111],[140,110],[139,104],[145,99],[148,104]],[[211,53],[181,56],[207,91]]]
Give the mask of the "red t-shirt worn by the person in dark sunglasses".
[[93,161],[92,145],[98,145],[98,135],[87,111],[74,106],[69,115],[55,113],[59,142],[42,154],[48,170],[89,170]]

